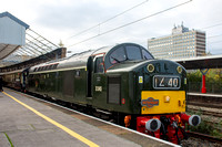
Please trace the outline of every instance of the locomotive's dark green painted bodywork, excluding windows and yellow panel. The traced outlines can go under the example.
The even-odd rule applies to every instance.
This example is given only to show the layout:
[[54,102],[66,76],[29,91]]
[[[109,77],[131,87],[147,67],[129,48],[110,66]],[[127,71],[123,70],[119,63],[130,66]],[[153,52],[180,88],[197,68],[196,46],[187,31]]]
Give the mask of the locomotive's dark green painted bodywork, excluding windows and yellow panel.
[[[109,50],[104,48],[95,52],[90,51],[82,53],[82,57],[75,55],[73,59],[68,59],[67,61],[54,62],[58,64],[58,69],[51,71],[34,72],[38,66],[33,66],[29,74],[28,91],[70,103],[90,105],[99,109],[140,115],[141,92],[160,91],[153,88],[154,75],[176,75],[181,78],[181,87],[178,91],[186,90],[186,84],[184,84],[186,72],[182,67],[183,72],[179,74],[176,67],[181,65],[172,61],[124,61],[114,65],[109,63],[105,66],[109,67],[105,73],[95,73],[95,59],[105,55],[105,52],[108,56],[115,49],[117,46]],[[95,53],[95,55],[93,53]],[[107,56],[103,57],[104,63],[109,62],[109,57]],[[54,63],[46,63],[39,66]],[[149,73],[147,70],[148,64],[154,65],[155,70],[152,73]],[[88,69],[85,70],[85,67]],[[120,102],[117,104],[109,103],[109,78],[112,76],[120,77]],[[142,83],[139,83],[139,76],[143,77]],[[91,82],[89,82],[90,78]],[[91,90],[90,94],[89,88]],[[89,95],[90,97],[88,97]],[[123,98],[124,104],[122,103]]]

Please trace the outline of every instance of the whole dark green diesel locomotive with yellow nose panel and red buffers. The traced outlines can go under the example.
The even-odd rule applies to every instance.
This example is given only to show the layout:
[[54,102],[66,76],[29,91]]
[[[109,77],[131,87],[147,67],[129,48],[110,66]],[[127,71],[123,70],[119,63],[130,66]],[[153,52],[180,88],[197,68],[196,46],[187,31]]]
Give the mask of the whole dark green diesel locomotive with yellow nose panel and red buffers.
[[109,112],[125,127],[179,144],[185,123],[186,71],[123,43],[30,67],[27,91]]

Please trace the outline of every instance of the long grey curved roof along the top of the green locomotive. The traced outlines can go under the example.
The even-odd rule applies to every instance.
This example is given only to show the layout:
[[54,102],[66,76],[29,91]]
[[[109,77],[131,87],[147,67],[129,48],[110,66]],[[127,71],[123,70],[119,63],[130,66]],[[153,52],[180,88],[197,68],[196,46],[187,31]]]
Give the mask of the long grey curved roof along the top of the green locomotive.
[[[43,72],[54,72],[54,71],[68,71],[68,70],[74,70],[74,69],[85,69],[87,63],[90,56],[104,56],[104,64],[111,66],[112,64],[108,60],[110,54],[114,52],[117,49],[120,48],[125,48],[128,45],[134,45],[141,48],[141,50],[144,50],[142,46],[134,44],[134,43],[122,43],[122,44],[117,44],[117,45],[111,45],[111,46],[103,46],[98,50],[89,50],[85,52],[77,53],[73,54],[69,57],[61,59],[61,60],[56,60],[56,61],[50,61],[47,63],[42,63],[36,66],[32,66],[30,69],[30,73],[43,73]],[[134,54],[132,54],[134,55]],[[108,56],[108,57],[107,57]],[[152,55],[150,55],[151,59],[153,59]],[[105,59],[107,57],[107,59]],[[111,56],[112,57],[112,56]],[[117,60],[117,59],[114,59]],[[118,60],[117,60],[118,61]],[[108,69],[107,67],[107,69]]]

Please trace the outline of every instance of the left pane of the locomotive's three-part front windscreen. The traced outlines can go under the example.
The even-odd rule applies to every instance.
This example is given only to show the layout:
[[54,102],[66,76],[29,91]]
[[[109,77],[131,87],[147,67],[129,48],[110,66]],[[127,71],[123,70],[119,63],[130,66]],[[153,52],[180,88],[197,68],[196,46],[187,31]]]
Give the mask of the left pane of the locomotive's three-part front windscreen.
[[125,57],[124,48],[119,48],[110,54],[110,62],[112,64],[120,63],[125,60],[127,57]]

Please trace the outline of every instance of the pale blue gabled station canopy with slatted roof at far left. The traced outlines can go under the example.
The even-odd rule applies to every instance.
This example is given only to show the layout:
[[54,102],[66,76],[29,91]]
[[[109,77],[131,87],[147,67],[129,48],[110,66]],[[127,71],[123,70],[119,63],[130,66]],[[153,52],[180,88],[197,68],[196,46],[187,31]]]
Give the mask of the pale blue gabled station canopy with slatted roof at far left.
[[11,13],[0,13],[0,67],[28,61],[58,48]]

